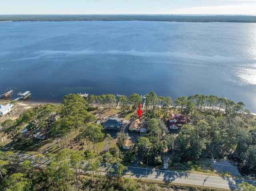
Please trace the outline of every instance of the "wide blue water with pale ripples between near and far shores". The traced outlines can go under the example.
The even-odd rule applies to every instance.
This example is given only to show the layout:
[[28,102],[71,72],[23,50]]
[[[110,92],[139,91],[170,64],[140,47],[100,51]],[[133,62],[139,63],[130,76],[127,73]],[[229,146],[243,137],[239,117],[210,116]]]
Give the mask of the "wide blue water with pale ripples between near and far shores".
[[0,31],[0,94],[223,95],[256,113],[256,24],[3,22]]

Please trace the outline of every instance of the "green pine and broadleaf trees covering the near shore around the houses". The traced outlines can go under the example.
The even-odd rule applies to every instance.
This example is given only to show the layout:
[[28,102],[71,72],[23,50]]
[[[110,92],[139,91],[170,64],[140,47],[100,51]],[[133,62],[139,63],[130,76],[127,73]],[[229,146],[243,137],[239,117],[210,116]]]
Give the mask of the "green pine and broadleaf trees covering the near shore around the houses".
[[[199,94],[181,96],[176,100],[157,96],[154,92],[145,97],[141,119],[148,122],[148,133],[136,141],[142,165],[159,167],[163,163],[162,154],[168,153],[172,155],[170,169],[187,170],[188,161],[197,164],[202,159],[211,159],[212,155],[214,158],[224,158],[236,154],[237,164],[246,167],[248,173],[254,176],[256,120],[249,110],[244,109],[243,102],[235,103],[225,97]],[[29,147],[32,144],[30,141],[22,142],[20,133],[22,126],[28,124],[26,128],[33,135],[41,130],[45,132],[46,140],[56,139],[58,151],[38,154],[36,163],[40,165],[37,169],[34,169],[31,161],[19,163],[11,151],[0,152],[0,189],[154,190],[154,185],[140,184],[121,177],[126,170],[124,162],[133,160],[137,150],[124,152],[121,149],[124,140],[128,138],[127,133],[121,132],[116,134],[116,145],[111,146],[113,138],[110,134],[102,133],[102,125],[96,124],[97,118],[89,112],[99,107],[104,112],[116,110],[116,101],[114,95],[91,95],[86,101],[80,95],[69,94],[63,97],[61,105],[38,105],[28,109],[16,121],[5,120],[1,125],[13,140],[14,148],[22,145]],[[138,103],[142,103],[141,96],[136,93],[128,97],[122,95],[118,102],[120,116],[130,114],[130,119],[138,118],[136,110]],[[186,124],[179,132],[172,133],[168,129],[170,113],[186,117]],[[108,142],[108,150],[100,152],[98,142],[103,139]],[[51,162],[45,165],[42,162],[45,159],[50,159]],[[115,177],[110,176],[114,171],[113,165],[118,166]],[[106,175],[101,176],[99,168],[104,168]],[[92,173],[84,174],[80,169]]]

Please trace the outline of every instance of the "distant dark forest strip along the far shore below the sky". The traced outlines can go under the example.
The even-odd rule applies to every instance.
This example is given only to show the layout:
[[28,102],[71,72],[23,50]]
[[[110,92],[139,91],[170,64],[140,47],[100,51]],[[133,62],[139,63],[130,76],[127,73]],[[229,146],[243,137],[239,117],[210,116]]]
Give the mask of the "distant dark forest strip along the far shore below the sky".
[[229,15],[0,15],[0,21],[172,21],[172,22],[246,22],[256,16]]

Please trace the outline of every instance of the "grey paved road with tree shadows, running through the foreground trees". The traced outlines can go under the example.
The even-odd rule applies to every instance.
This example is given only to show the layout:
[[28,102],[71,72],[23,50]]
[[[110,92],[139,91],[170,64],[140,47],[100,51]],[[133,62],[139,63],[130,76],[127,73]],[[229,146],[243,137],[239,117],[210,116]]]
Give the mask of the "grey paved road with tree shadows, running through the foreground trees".
[[[34,155],[27,154],[18,154],[20,160],[30,160],[35,161]],[[42,161],[42,163],[49,163],[49,160]],[[116,169],[116,165],[113,165],[114,169]],[[106,169],[102,169],[106,170]],[[116,170],[115,170],[116,171]],[[124,177],[132,177],[137,179],[150,179],[157,181],[166,181],[166,182],[174,182],[174,183],[183,183],[190,185],[200,185],[200,186],[208,186],[208,187],[216,187],[222,189],[236,189],[239,183],[243,181],[248,182],[256,186],[256,181],[250,180],[242,180],[242,179],[234,179],[234,178],[226,178],[226,177],[218,177],[211,175],[199,175],[192,173],[180,173],[175,171],[163,171],[156,169],[146,169],[140,167],[128,167],[128,170],[124,171]]]

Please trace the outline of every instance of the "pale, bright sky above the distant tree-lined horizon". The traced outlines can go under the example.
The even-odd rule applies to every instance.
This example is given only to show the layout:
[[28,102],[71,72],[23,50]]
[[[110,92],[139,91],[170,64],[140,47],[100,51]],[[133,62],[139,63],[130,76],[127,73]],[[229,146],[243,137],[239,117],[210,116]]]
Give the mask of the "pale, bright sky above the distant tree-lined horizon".
[[0,0],[0,14],[256,15],[256,0]]

